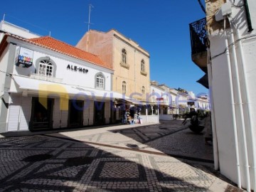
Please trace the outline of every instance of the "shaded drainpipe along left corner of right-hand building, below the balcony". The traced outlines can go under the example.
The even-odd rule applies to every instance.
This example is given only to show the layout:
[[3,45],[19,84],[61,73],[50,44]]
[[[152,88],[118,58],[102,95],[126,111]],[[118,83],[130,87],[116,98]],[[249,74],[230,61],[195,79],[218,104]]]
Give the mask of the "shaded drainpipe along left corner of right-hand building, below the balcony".
[[213,93],[212,93],[212,69],[210,65],[210,49],[207,48],[207,70],[208,70],[208,83],[210,90],[210,106],[211,106],[211,122],[213,129],[213,159],[214,159],[214,169],[218,170],[219,167],[219,156],[218,156],[218,139],[217,139],[217,131],[215,124],[215,112],[213,107]]

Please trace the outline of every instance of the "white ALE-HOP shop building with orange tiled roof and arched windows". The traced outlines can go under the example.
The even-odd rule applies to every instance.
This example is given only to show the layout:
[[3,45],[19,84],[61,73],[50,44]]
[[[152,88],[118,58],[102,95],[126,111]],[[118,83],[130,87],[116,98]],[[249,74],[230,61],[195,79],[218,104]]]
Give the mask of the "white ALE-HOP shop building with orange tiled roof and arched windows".
[[49,36],[6,34],[0,44],[0,132],[109,124],[113,70]]

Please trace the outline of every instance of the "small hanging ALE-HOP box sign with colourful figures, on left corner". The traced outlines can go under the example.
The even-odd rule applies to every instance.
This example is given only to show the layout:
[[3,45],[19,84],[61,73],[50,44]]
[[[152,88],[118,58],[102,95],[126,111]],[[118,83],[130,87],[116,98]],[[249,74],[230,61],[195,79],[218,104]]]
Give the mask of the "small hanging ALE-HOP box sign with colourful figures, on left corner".
[[33,63],[33,50],[28,48],[21,47],[18,54],[18,62],[16,63],[17,66],[21,65],[23,68],[31,67]]

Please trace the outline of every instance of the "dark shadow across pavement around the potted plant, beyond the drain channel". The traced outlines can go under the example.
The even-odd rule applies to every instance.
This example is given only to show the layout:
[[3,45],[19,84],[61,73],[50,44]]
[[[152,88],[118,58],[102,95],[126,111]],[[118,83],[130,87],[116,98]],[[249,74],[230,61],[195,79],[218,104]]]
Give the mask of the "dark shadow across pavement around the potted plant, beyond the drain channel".
[[[213,164],[213,146],[205,144],[204,132],[193,133],[187,126],[181,124],[181,120],[162,121],[160,124],[127,129],[113,129],[110,132],[133,139],[137,142],[134,143],[137,144],[137,149],[145,149],[148,146],[181,159]],[[129,143],[127,147],[134,144]]]

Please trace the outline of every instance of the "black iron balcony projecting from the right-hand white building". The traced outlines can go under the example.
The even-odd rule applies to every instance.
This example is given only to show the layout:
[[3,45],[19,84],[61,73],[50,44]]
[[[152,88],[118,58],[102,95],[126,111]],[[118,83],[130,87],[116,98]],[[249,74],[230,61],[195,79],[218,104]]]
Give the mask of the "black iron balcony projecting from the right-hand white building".
[[207,73],[207,51],[206,43],[206,18],[189,24],[191,36],[191,57],[193,63],[196,63],[203,72]]

